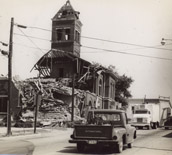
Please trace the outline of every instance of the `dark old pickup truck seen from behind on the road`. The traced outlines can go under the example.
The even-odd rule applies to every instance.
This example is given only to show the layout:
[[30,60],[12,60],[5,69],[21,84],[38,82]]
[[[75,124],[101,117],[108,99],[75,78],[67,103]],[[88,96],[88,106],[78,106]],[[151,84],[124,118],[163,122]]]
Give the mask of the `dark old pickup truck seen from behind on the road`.
[[88,112],[84,124],[74,126],[69,143],[76,143],[78,152],[88,146],[104,145],[121,153],[126,144],[129,148],[136,138],[136,128],[128,124],[122,110],[94,109]]

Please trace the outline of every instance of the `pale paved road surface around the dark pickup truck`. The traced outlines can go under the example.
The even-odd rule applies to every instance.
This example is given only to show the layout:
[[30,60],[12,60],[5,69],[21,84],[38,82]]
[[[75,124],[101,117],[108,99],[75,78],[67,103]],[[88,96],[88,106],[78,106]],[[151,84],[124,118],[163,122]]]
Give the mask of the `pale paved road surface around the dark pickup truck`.
[[[68,143],[71,129],[51,133],[0,138],[0,154],[78,155],[76,145]],[[82,154],[115,154],[109,148],[88,148]],[[125,147],[121,155],[171,155],[172,130],[137,130],[133,148]]]

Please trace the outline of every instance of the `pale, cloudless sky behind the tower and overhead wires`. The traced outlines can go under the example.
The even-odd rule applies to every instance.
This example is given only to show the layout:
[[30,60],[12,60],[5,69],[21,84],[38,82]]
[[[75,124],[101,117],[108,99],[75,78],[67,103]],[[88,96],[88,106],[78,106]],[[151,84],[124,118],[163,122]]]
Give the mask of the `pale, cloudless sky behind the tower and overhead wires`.
[[[172,39],[171,0],[70,2],[80,12],[83,24],[81,58],[105,67],[113,65],[120,75],[131,77],[134,82],[129,90],[133,98],[172,99],[172,40],[161,45],[162,38]],[[30,71],[50,50],[51,19],[65,3],[66,0],[0,0],[0,41],[9,42],[11,17],[16,24],[27,26],[14,26],[13,76],[25,79],[37,75]],[[8,51],[1,44],[0,49]],[[0,54],[0,75],[8,73],[7,60]]]

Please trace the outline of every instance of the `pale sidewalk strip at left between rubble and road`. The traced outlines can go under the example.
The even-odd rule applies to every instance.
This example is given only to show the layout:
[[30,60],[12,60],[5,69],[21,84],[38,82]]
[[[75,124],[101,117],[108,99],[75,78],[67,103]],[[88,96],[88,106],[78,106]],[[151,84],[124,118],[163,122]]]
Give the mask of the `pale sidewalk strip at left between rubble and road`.
[[[67,130],[66,128],[36,128],[36,134],[39,133],[50,133],[54,130]],[[32,135],[34,134],[34,128],[11,128],[11,136],[21,136],[21,135]],[[0,127],[0,138],[7,136],[7,127]]]

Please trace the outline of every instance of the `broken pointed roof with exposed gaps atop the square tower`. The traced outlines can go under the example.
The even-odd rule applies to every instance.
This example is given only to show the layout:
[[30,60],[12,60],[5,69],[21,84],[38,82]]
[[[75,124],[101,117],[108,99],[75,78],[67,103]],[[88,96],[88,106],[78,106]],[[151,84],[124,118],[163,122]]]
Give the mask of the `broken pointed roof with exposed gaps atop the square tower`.
[[67,18],[67,17],[79,19],[79,12],[74,10],[69,0],[67,0],[66,4],[64,4],[60,8],[57,14],[53,17],[53,20]]

